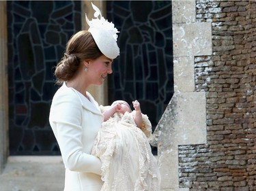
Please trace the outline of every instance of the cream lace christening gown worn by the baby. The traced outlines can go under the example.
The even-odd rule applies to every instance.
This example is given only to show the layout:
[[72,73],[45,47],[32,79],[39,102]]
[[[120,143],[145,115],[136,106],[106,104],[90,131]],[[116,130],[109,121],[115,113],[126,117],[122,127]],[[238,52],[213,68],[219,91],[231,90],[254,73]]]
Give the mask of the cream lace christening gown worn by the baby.
[[102,162],[101,191],[160,190],[160,172],[148,141],[152,136],[150,120],[143,115],[141,131],[134,114],[114,114],[98,132],[92,154]]

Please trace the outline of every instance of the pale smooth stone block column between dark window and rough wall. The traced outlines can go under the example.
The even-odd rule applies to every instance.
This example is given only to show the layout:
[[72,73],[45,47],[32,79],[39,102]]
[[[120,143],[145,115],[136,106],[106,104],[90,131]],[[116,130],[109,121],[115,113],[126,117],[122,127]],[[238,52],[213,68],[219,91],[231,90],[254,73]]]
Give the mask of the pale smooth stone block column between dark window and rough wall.
[[178,145],[206,143],[205,92],[195,92],[195,56],[212,54],[210,22],[195,22],[195,1],[172,1],[175,93],[154,131],[161,190],[179,187]]

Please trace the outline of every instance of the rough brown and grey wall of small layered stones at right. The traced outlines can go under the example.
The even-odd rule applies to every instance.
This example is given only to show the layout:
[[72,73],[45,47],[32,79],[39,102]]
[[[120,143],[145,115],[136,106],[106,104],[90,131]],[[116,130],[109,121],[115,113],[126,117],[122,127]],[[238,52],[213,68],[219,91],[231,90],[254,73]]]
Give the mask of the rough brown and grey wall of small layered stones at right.
[[180,145],[180,188],[256,190],[256,1],[196,1],[212,22],[212,56],[195,57],[207,144]]

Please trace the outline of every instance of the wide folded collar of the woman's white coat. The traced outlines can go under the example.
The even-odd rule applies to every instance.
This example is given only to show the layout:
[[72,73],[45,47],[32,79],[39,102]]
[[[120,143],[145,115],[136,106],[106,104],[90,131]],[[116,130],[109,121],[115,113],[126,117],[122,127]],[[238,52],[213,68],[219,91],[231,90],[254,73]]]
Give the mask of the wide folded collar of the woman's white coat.
[[[65,82],[63,83],[63,86],[65,88],[69,88],[68,86],[66,86]],[[94,97],[92,97],[89,92],[86,92],[87,97],[89,98],[89,99],[87,99],[78,90],[76,90],[74,88],[70,88],[70,89],[72,89],[77,94],[77,96],[79,97],[79,100],[81,101],[81,105],[83,106],[83,108],[91,111],[94,114],[98,114],[98,115],[102,116],[102,113],[100,112],[100,107],[98,106],[98,103],[94,100]]]

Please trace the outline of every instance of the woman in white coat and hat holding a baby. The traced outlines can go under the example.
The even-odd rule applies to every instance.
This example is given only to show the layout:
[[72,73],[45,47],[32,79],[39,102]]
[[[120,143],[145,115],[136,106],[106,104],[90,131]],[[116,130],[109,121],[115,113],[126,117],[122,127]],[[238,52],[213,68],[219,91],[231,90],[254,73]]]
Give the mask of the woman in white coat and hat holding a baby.
[[91,149],[104,117],[87,88],[102,85],[112,73],[119,48],[117,29],[93,8],[96,19],[87,19],[89,30],[71,37],[55,69],[62,86],[53,97],[49,121],[66,168],[65,191],[98,191],[103,184],[102,164]]

